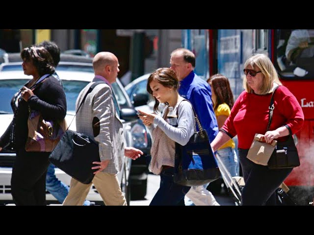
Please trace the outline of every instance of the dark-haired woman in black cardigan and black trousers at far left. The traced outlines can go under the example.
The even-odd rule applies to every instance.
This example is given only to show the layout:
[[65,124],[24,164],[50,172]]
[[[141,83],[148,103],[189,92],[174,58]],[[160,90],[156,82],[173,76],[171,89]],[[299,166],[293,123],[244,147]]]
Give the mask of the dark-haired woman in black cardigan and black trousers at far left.
[[[14,95],[11,106],[14,118],[0,137],[3,147],[15,147],[11,193],[16,205],[46,205],[46,172],[50,152],[26,152],[29,110],[39,111],[44,119],[62,120],[66,115],[66,98],[60,83],[52,74],[54,65],[44,47],[27,47],[21,52],[23,71],[33,78]],[[43,77],[46,79],[40,82]],[[37,83],[38,82],[38,83]],[[36,88],[32,91],[29,88]]]

